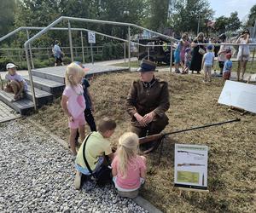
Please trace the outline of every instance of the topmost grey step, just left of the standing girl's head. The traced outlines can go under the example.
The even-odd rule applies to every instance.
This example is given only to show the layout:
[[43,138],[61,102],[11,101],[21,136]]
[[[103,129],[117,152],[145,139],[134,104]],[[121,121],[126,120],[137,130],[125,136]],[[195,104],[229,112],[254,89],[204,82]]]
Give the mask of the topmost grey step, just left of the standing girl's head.
[[[57,66],[57,67],[59,67],[59,66]],[[51,72],[50,68],[52,68],[52,67],[49,67],[49,69],[47,69],[47,70],[45,68],[32,70],[32,75],[37,76],[39,78],[44,78],[44,79],[48,79],[48,80],[52,80],[52,81],[55,81],[58,83],[65,84],[65,77],[64,77],[65,75],[62,74],[61,70],[57,70],[56,72]],[[63,72],[65,72],[65,70]]]

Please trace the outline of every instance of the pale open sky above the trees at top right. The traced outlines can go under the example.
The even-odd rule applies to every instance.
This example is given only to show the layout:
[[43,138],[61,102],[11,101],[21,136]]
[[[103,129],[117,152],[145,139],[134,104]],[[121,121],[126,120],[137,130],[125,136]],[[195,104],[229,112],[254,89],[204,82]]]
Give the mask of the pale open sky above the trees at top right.
[[214,18],[221,15],[230,16],[230,13],[237,11],[238,17],[244,21],[250,9],[256,4],[256,0],[208,0],[211,8],[215,11]]

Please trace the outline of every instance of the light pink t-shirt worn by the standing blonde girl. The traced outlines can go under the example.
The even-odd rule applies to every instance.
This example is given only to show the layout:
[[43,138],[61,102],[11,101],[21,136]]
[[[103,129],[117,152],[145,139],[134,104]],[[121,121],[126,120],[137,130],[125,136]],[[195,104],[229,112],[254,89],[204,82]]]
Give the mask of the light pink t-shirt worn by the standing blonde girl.
[[67,109],[73,118],[79,118],[79,115],[84,112],[85,100],[84,100],[84,89],[81,84],[77,86],[66,86],[63,94],[67,96]]

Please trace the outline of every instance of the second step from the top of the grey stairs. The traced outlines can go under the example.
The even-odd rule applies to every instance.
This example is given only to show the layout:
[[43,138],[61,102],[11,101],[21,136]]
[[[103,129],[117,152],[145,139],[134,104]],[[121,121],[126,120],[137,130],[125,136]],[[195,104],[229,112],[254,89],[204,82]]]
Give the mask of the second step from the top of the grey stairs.
[[[26,83],[30,84],[28,76],[24,76],[23,78],[26,80]],[[65,88],[65,84],[63,83],[59,83],[45,78],[40,78],[38,76],[32,76],[32,78],[34,87],[49,92],[55,97],[60,96]]]

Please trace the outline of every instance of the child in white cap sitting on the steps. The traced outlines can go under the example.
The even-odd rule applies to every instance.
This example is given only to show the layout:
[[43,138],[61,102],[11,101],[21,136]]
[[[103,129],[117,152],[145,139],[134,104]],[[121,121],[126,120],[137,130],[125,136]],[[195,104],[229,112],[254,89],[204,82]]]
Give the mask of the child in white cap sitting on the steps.
[[26,81],[16,72],[17,66],[13,63],[8,63],[6,69],[9,72],[5,79],[8,82],[4,91],[8,93],[14,93],[14,99],[12,101],[19,101],[24,98],[27,90]]

